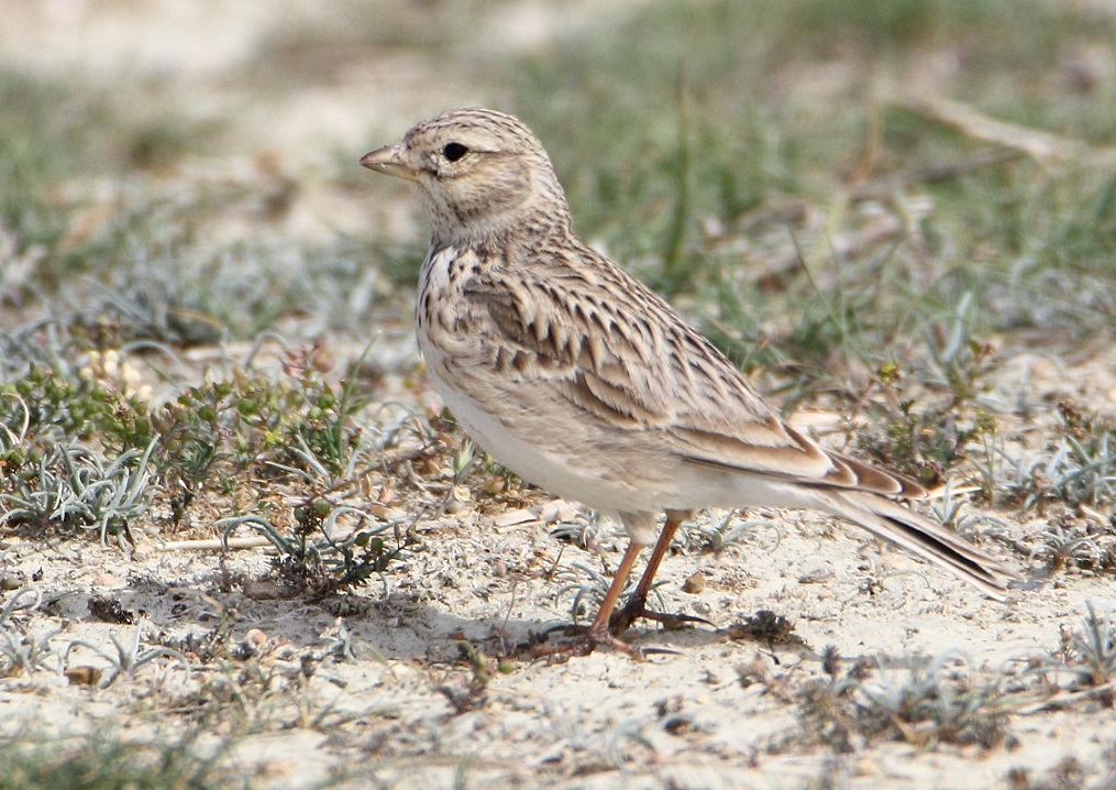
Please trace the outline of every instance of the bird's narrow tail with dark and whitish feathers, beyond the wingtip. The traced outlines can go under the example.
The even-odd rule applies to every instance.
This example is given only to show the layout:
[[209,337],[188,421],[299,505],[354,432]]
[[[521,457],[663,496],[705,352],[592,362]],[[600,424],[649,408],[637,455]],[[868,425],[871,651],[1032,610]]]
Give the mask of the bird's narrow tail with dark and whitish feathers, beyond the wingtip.
[[935,565],[953,571],[985,594],[1003,600],[1008,581],[1019,579],[1016,571],[941,524],[891,499],[863,492],[825,492],[825,510],[847,518],[885,541],[905,549]]

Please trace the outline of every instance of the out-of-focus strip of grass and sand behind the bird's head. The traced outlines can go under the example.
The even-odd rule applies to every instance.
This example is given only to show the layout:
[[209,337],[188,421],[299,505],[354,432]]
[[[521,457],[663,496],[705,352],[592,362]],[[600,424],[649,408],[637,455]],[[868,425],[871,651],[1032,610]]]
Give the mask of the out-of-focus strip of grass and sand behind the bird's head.
[[853,313],[971,293],[987,329],[1080,336],[1114,306],[1114,34],[1101,0],[12,0],[0,325],[367,333],[425,228],[357,158],[487,105],[745,364],[825,354],[838,280]]

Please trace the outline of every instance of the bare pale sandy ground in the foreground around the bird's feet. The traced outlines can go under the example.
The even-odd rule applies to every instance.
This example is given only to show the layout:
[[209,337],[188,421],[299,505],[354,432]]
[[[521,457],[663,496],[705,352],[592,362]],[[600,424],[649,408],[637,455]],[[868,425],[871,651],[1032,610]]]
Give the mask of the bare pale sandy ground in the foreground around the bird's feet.
[[[881,687],[902,683],[907,661],[947,653],[969,669],[1018,678],[1028,657],[1057,650],[1061,627],[1079,627],[1084,601],[1108,611],[1116,606],[1110,583],[1070,577],[994,602],[894,552],[879,556],[855,530],[827,520],[749,516],[769,517],[780,540],[757,527],[735,550],[668,558],[662,570],[666,608],[719,628],[636,629],[635,644],[670,650],[644,661],[609,650],[564,664],[514,661],[475,697],[473,675],[458,660],[462,640],[497,655],[501,639],[520,643],[567,621],[571,597],[557,593],[565,581],[584,578],[573,563],[614,567],[622,540],[606,537],[598,559],[564,550],[538,522],[499,527],[465,513],[423,525],[427,548],[392,569],[386,594],[374,586],[350,601],[356,611],[344,627],[356,657],[326,657],[306,682],[305,704],[323,723],[299,726],[277,711],[294,722],[240,739],[244,771],[273,787],[309,786],[348,769],[400,787],[454,787],[463,772],[470,784],[497,787],[802,787],[829,777],[837,787],[989,788],[1004,786],[1012,770],[1039,778],[1074,759],[1087,767],[1090,787],[1107,787],[1100,780],[1113,768],[1112,711],[1014,715],[1008,741],[987,751],[874,742],[835,755],[800,748],[797,706],[777,692],[819,676],[820,653],[830,645],[849,663],[879,660]],[[262,666],[297,674],[304,655],[329,656],[341,624],[329,607],[267,600],[266,584],[261,592],[252,581],[267,575],[261,551],[219,563],[213,552],[166,552],[147,542],[132,558],[74,541],[9,546],[9,574],[44,580],[48,603],[29,631],[61,628],[59,644],[88,640],[110,650],[112,638],[131,638],[132,626],[90,613],[96,597],[135,615],[145,645],[156,635],[164,644],[202,637],[224,617],[234,640],[258,645]],[[704,589],[683,592],[696,571]],[[790,618],[801,644],[732,638],[728,627],[761,609]],[[105,661],[79,647],[68,665]],[[106,689],[44,682],[40,673],[37,683],[0,693],[0,721],[7,732],[35,721],[60,733],[104,722],[157,730],[152,714],[140,713],[146,707],[140,699],[150,696],[157,710],[161,694],[181,698],[204,680],[205,670],[195,672],[202,677],[186,680],[169,661]],[[161,683],[153,679],[161,674]],[[757,674],[767,682],[741,682]],[[472,703],[459,706],[443,688]],[[330,717],[339,723],[328,726]]]

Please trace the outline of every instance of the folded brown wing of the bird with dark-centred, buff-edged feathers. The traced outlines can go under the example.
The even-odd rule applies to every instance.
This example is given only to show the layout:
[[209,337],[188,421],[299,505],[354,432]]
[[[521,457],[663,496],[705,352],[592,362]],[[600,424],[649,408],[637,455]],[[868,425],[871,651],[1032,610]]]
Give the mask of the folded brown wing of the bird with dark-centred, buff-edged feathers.
[[549,379],[588,416],[657,438],[683,461],[822,487],[925,493],[787,425],[708,339],[603,256],[585,247],[547,255],[545,270],[520,255],[513,269],[464,285],[503,341],[494,359],[502,375]]

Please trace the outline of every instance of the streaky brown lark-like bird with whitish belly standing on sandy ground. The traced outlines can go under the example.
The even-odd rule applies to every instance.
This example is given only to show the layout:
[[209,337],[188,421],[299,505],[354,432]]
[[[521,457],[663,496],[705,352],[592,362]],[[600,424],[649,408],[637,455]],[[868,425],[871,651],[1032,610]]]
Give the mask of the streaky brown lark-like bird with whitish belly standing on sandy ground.
[[639,658],[619,639],[636,619],[700,619],[646,600],[680,525],[709,507],[827,512],[995,599],[1019,578],[896,502],[926,496],[918,483],[792,427],[665,299],[578,238],[546,150],[514,116],[450,110],[359,164],[417,188],[431,241],[415,324],[445,407],[523,480],[617,517],[627,533],[570,651],[604,645]]

